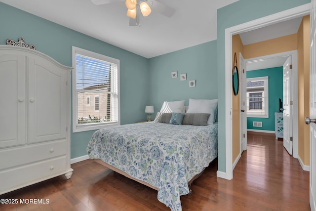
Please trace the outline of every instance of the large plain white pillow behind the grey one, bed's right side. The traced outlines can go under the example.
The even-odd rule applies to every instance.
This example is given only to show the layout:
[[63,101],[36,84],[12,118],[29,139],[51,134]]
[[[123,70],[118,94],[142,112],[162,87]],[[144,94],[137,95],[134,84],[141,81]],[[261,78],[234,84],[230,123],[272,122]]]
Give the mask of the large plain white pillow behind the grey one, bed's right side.
[[207,113],[210,114],[207,124],[213,125],[215,121],[215,111],[217,108],[218,99],[213,100],[196,100],[189,99],[189,108],[187,113]]

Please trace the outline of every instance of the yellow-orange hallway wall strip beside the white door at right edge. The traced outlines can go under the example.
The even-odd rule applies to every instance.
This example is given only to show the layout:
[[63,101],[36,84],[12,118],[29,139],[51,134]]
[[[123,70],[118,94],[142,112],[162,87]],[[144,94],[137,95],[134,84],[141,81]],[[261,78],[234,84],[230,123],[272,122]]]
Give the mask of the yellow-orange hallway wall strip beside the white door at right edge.
[[310,116],[310,16],[305,16],[297,32],[298,44],[298,155],[310,165],[310,131],[304,118]]

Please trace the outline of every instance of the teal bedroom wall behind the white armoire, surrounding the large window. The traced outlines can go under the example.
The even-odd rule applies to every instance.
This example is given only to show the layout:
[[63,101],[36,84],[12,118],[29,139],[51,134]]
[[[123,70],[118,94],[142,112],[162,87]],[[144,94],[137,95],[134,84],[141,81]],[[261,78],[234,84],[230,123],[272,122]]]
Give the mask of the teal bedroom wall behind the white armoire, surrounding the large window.
[[[72,66],[72,46],[119,59],[121,124],[144,120],[145,106],[150,103],[147,58],[0,2],[0,44],[5,44],[7,39],[17,41],[20,37],[67,66]],[[87,154],[86,146],[92,133],[71,133],[71,158]]]

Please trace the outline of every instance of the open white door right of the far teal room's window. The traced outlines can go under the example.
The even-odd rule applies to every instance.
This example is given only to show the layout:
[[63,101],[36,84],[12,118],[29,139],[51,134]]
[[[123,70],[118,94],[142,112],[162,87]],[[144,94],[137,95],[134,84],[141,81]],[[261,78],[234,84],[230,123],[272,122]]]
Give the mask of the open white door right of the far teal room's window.
[[292,57],[283,64],[283,146],[292,155]]

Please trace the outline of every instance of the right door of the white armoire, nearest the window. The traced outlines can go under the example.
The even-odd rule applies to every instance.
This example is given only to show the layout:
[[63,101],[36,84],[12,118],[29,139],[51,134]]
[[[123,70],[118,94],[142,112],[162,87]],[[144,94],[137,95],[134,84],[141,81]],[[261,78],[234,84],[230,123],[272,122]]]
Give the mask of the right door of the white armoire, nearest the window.
[[66,137],[64,102],[66,74],[54,65],[29,59],[29,142],[56,140]]

